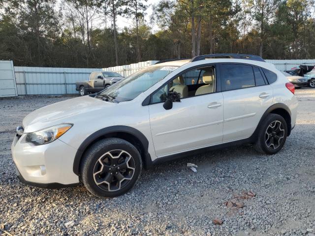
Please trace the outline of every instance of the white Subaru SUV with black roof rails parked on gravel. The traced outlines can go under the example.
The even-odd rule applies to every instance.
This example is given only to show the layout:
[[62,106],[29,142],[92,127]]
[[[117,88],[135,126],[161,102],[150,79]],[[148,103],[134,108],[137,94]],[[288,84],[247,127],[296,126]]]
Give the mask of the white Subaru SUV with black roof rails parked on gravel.
[[281,150],[295,125],[294,85],[252,55],[214,54],[146,67],[103,91],[40,108],[12,144],[24,183],[83,182],[98,197],[130,190],[142,168],[205,148]]

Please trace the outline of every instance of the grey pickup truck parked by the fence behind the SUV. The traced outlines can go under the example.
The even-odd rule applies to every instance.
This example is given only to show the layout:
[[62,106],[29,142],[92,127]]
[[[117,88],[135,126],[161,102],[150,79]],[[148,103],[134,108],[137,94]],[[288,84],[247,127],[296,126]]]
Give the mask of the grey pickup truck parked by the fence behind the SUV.
[[88,81],[76,82],[75,90],[80,92],[81,96],[87,95],[88,92],[99,92],[115,84],[124,77],[117,72],[112,71],[95,71],[90,74]]

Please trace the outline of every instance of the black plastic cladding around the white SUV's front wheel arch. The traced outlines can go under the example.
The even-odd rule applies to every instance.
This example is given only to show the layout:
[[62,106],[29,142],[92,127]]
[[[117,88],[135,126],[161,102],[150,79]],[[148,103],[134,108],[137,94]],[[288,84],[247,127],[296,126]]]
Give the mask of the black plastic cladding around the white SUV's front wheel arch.
[[[82,157],[84,152],[90,147],[91,144],[95,143],[96,141],[102,139],[102,138],[108,138],[108,137],[117,137],[122,138],[128,136],[130,138],[135,138],[136,142],[136,148],[140,149],[139,152],[141,154],[141,158],[144,164],[144,167],[151,165],[151,156],[148,153],[149,148],[149,141],[147,138],[142,134],[139,130],[132,128],[130,126],[125,125],[115,125],[110,126],[106,128],[102,128],[95,133],[91,134],[88,138],[86,138],[80,147],[78,148],[73,162],[73,172],[79,176],[80,174],[80,164],[82,161]],[[125,139],[126,140],[126,139]],[[128,141],[128,140],[126,140]],[[132,143],[132,142],[130,142]],[[138,144],[140,143],[140,144]],[[134,144],[133,144],[134,145]],[[138,146],[138,147],[137,147]],[[139,147],[140,146],[140,147]]]

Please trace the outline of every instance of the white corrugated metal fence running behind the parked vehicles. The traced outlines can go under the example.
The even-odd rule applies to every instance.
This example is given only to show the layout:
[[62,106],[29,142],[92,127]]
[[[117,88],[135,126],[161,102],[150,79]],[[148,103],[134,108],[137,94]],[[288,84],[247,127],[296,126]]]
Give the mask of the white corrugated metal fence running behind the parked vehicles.
[[[315,59],[266,61],[273,63],[277,69],[282,71],[289,70],[292,67],[297,67],[301,64],[315,65]],[[2,68],[1,65],[4,65],[4,62],[6,62],[6,65],[9,63],[13,66],[12,61],[2,61],[0,64],[0,96],[16,96],[17,94],[74,94],[78,93],[75,90],[75,82],[88,80],[92,71],[115,71],[126,77],[142,68],[155,64],[157,61],[149,60],[130,65],[108,68],[51,68],[14,66],[16,87],[14,87],[14,79],[12,76],[9,76],[10,73],[12,75],[12,67],[10,67],[11,69],[9,70],[4,69],[3,66]],[[8,67],[6,66],[6,68]],[[6,79],[9,79],[10,81]]]

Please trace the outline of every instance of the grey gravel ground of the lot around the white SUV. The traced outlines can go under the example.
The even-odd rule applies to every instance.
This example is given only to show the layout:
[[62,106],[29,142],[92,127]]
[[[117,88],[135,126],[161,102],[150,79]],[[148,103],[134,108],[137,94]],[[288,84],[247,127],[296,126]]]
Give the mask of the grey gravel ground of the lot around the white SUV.
[[[47,190],[15,176],[15,127],[33,110],[71,97],[2,99],[0,224],[12,235],[314,236],[315,89],[296,96],[297,123],[278,154],[248,145],[160,164],[143,171],[128,194],[106,200],[82,185]],[[197,173],[187,162],[198,165]],[[216,218],[223,223],[215,225]]]

